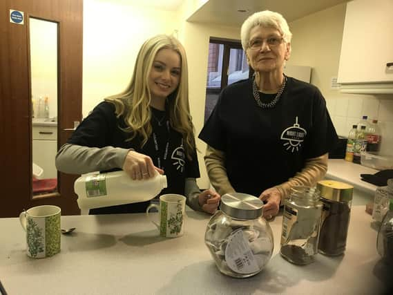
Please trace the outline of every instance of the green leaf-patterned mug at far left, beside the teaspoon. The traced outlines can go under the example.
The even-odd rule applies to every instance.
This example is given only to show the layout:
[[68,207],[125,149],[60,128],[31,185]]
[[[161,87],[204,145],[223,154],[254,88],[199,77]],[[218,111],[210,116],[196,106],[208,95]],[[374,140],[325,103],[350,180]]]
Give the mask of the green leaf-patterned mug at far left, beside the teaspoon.
[[19,215],[26,231],[26,248],[32,258],[46,258],[60,251],[61,209],[57,206],[43,205],[32,207]]

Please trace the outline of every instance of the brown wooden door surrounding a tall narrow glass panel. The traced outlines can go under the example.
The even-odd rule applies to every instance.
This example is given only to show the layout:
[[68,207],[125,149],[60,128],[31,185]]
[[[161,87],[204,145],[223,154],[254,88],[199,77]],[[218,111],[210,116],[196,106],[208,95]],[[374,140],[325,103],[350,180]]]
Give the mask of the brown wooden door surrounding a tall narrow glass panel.
[[[10,22],[23,12],[23,24]],[[0,1],[0,217],[19,216],[41,204],[79,214],[73,183],[77,175],[57,173],[57,192],[32,193],[32,99],[29,19],[57,23],[57,149],[73,122],[82,119],[82,0]],[[55,161],[55,159],[53,159]]]

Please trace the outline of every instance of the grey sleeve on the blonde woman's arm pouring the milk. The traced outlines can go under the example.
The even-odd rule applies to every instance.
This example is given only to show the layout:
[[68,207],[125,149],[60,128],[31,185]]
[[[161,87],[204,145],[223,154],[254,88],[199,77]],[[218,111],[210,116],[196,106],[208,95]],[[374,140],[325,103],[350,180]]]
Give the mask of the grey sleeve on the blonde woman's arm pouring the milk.
[[56,168],[70,174],[122,169],[126,155],[130,150],[113,146],[99,149],[77,144],[64,144],[57,152]]

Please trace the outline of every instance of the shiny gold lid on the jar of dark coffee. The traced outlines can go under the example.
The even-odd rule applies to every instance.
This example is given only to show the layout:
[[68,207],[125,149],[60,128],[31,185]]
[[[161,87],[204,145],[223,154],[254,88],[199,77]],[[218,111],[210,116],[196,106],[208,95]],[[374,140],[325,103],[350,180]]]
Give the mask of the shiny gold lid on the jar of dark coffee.
[[320,180],[317,182],[316,188],[320,191],[322,198],[336,202],[349,202],[352,200],[352,192],[354,191],[352,185],[335,180]]

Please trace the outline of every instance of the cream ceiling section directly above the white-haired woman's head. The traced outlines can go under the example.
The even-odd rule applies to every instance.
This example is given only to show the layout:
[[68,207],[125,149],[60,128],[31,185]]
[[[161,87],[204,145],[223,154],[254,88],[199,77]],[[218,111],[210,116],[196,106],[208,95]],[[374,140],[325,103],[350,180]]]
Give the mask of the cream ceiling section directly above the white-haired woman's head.
[[[240,27],[253,12],[272,10],[291,22],[344,2],[347,0],[209,0],[187,21]],[[246,12],[238,12],[240,9]]]

